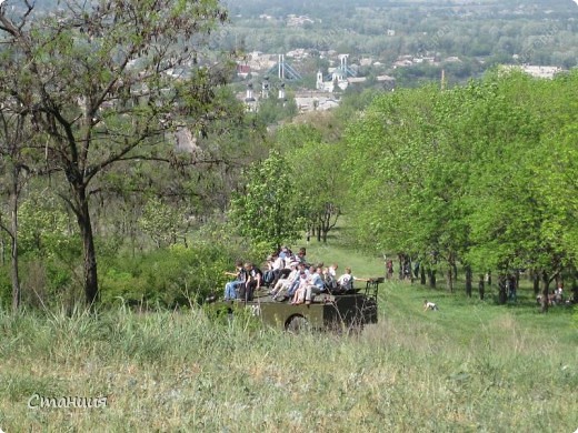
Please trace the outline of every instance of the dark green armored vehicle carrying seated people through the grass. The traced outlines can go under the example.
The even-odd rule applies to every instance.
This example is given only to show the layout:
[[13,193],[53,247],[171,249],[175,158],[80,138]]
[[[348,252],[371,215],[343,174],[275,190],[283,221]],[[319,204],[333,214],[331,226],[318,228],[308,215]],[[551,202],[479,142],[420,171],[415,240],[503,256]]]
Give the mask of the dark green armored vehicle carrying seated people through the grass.
[[365,288],[343,294],[321,293],[310,304],[292,305],[275,301],[266,291],[255,294],[252,301],[220,302],[228,305],[229,314],[237,309],[250,309],[263,324],[290,332],[302,330],[359,331],[366,324],[377,323],[378,289],[383,278],[369,279]]

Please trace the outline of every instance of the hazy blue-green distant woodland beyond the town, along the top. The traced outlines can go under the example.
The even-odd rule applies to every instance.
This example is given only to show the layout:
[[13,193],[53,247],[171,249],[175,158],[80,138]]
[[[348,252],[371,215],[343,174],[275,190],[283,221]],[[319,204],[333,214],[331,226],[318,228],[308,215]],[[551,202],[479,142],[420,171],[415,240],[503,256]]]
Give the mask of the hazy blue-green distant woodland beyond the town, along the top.
[[[367,3],[367,4],[366,4]],[[349,53],[350,63],[370,57],[379,64],[360,68],[359,75],[390,74],[410,87],[439,78],[465,81],[496,64],[575,67],[578,6],[572,1],[515,2],[229,2],[231,26],[220,46],[241,52],[287,53],[301,48],[310,58],[293,62],[305,75],[326,70],[316,52]],[[287,26],[288,14],[313,22]],[[269,16],[269,18],[262,18]],[[389,33],[388,31],[395,33]],[[402,56],[435,58],[436,64],[393,68]],[[445,62],[458,57],[459,61]],[[291,61],[291,59],[288,59]]]

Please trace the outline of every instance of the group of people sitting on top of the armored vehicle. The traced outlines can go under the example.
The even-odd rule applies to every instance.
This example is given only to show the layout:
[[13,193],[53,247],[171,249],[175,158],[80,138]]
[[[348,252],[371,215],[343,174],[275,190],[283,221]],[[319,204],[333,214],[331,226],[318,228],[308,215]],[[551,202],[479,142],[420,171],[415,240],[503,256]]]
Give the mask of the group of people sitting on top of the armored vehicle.
[[299,249],[293,254],[287,246],[275,251],[266,260],[266,270],[261,271],[251,262],[236,262],[236,272],[226,272],[235,276],[225,285],[225,301],[252,301],[253,293],[268,288],[268,294],[276,301],[290,301],[291,304],[309,304],[320,293],[341,294],[351,292],[353,281],[368,281],[355,278],[351,268],[337,276],[338,264],[329,266],[323,263],[307,262],[307,251]]

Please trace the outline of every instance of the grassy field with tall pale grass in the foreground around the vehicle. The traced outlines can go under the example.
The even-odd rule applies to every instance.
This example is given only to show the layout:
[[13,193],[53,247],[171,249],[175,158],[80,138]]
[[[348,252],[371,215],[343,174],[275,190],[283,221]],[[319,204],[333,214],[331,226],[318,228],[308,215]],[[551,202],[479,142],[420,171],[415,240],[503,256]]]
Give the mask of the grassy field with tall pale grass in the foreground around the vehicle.
[[[310,245],[315,261],[382,273],[380,258]],[[462,281],[460,282],[462,284]],[[460,284],[458,284],[458,288]],[[571,309],[386,282],[357,336],[291,335],[200,310],[0,315],[0,427],[19,431],[574,432]],[[423,299],[438,303],[423,312]],[[41,397],[100,407],[39,407]],[[29,407],[32,405],[33,407]],[[58,401],[57,401],[58,404]],[[69,404],[70,405],[70,404]]]

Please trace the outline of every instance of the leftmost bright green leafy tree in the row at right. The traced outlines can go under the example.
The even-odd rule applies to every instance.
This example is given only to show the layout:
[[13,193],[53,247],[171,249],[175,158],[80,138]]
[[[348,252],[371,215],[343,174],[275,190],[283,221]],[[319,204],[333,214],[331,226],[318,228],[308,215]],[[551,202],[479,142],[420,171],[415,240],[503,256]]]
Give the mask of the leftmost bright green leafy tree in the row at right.
[[441,248],[446,190],[428,177],[444,161],[432,138],[438,93],[429,87],[376,97],[347,130],[349,214],[358,242],[375,252],[425,260]]

